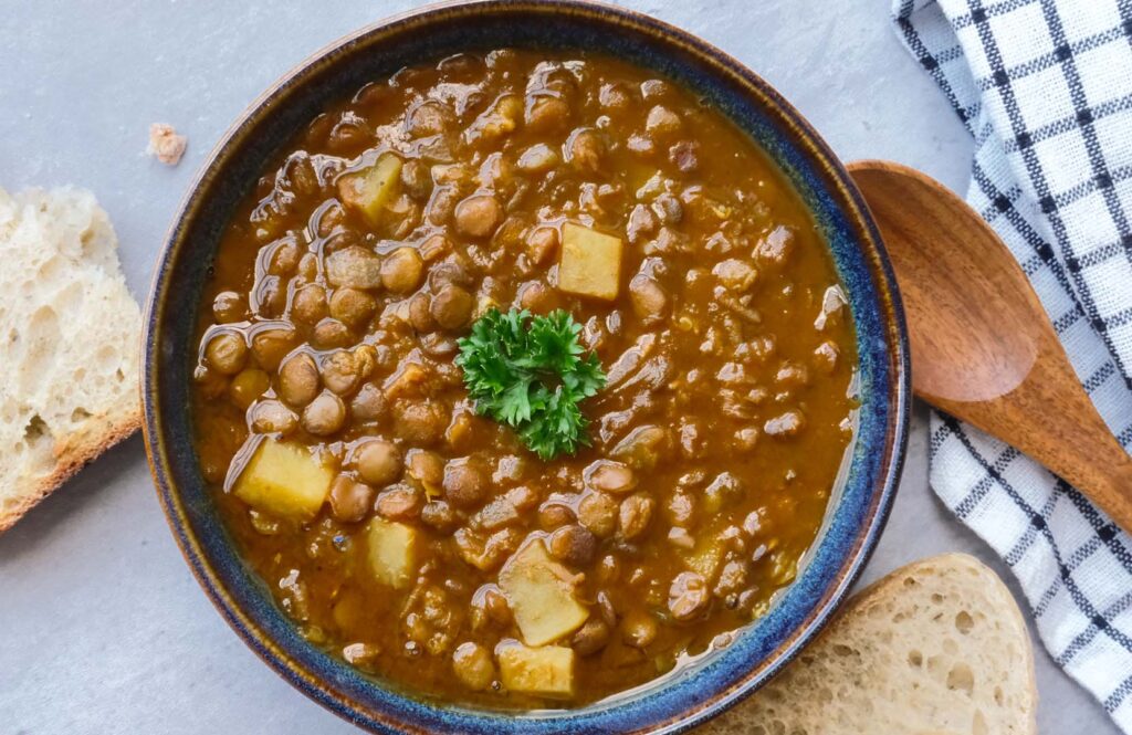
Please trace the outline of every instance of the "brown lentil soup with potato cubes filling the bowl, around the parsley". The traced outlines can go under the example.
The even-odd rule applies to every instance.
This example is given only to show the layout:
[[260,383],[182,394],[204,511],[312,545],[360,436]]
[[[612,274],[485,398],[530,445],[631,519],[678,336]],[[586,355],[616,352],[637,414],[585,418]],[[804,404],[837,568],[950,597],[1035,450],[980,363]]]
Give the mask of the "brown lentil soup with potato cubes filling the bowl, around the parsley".
[[[418,696],[573,707],[726,646],[852,438],[855,335],[804,204],[720,112],[599,54],[461,54],[315,119],[198,316],[196,450],[314,644]],[[458,340],[558,309],[604,386],[542,460]]]

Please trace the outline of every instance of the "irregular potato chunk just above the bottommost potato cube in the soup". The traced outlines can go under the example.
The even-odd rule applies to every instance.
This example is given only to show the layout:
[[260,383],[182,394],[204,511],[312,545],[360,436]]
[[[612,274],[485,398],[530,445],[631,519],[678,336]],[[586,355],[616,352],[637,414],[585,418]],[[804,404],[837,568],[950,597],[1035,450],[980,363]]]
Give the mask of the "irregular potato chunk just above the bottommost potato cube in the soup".
[[574,597],[574,574],[550,558],[541,539],[524,546],[504,565],[499,589],[528,646],[568,635],[590,616]]

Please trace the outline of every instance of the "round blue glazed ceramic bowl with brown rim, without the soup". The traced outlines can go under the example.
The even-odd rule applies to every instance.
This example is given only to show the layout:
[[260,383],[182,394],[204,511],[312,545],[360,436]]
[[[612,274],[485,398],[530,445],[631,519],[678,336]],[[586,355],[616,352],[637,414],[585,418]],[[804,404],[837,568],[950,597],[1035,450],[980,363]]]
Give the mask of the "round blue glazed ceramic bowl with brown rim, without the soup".
[[[524,713],[414,700],[301,638],[241,562],[200,476],[189,405],[195,305],[221,232],[263,166],[331,101],[406,65],[499,46],[600,50],[695,89],[782,169],[829,242],[857,327],[856,438],[797,580],[729,647],[581,709]],[[643,15],[576,0],[432,6],[348,36],[259,97],[205,163],[172,225],[146,317],[146,447],[177,541],[213,602],[265,661],[311,699],[374,732],[667,733],[702,723],[772,677],[829,619],[892,502],[909,411],[908,336],[864,200],[817,134],[774,89],[718,49]]]

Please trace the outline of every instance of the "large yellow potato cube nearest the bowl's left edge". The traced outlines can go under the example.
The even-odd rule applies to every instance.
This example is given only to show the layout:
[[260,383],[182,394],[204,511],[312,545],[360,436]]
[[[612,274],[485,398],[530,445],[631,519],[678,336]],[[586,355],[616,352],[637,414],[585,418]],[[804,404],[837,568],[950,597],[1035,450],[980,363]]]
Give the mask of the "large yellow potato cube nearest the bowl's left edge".
[[308,447],[266,438],[232,492],[257,511],[306,521],[318,513],[333,480],[334,470]]

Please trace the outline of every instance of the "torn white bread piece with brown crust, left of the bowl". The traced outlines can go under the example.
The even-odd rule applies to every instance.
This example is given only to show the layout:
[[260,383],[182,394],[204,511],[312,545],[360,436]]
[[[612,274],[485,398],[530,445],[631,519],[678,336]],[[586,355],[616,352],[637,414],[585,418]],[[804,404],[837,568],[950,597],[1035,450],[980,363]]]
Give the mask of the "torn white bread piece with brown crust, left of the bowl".
[[140,426],[117,247],[89,191],[0,189],[0,531]]

